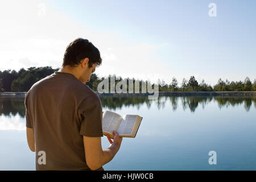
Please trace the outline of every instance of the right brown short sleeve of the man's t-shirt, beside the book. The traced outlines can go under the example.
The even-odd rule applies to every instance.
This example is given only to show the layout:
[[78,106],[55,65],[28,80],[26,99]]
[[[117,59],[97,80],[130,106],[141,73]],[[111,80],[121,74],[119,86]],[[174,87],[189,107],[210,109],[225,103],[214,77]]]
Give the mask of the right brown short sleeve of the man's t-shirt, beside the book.
[[80,135],[86,137],[103,137],[100,98],[94,93],[86,97],[81,102],[78,112],[81,121]]

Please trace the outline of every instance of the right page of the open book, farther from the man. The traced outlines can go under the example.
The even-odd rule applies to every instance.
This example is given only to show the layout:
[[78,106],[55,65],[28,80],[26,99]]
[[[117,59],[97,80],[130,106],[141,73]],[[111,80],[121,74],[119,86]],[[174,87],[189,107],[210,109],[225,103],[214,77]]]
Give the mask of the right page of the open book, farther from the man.
[[135,125],[137,115],[124,115],[117,133],[119,135],[131,135],[133,132],[133,127]]

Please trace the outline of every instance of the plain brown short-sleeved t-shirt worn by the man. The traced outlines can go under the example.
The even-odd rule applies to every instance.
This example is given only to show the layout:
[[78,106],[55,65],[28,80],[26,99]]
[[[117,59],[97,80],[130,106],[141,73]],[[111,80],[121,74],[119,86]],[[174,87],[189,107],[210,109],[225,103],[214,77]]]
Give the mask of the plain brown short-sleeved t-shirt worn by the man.
[[103,137],[101,101],[92,89],[71,73],[54,72],[31,87],[25,106],[36,170],[90,170],[82,136]]

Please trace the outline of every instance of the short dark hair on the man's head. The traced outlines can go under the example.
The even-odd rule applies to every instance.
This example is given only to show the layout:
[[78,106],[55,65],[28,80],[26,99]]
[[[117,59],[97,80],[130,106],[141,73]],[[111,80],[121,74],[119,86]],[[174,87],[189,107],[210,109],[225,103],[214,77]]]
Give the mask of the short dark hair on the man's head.
[[65,65],[75,67],[86,57],[89,59],[89,68],[91,68],[95,63],[97,63],[97,65],[101,65],[101,55],[97,47],[93,46],[93,44],[87,39],[77,38],[66,48],[62,65],[63,67]]

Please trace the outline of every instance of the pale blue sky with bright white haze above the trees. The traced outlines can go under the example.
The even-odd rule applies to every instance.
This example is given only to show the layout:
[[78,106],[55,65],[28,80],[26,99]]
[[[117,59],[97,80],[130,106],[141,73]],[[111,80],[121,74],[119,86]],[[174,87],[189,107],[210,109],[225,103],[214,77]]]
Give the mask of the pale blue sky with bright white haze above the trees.
[[[216,16],[213,7],[216,5]],[[256,1],[39,1],[0,6],[0,70],[60,68],[76,38],[96,46],[98,76],[170,84],[256,78]]]

